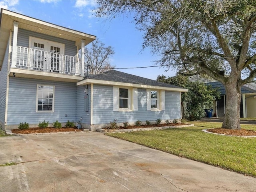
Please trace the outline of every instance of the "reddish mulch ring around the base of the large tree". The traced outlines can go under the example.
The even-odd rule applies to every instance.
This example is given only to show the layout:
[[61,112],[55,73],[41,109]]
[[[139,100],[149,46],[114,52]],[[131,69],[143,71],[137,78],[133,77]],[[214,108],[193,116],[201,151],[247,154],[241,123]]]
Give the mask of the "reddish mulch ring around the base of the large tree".
[[215,129],[208,129],[207,131],[212,133],[225,134],[225,135],[256,136],[256,131],[246,130],[246,129],[233,130],[233,129],[215,128]]

